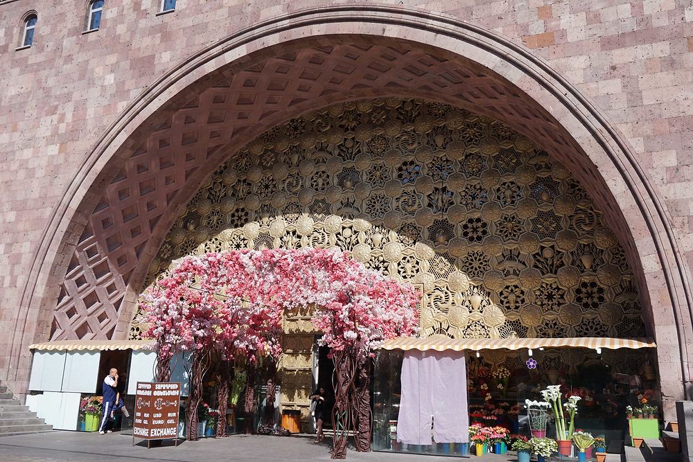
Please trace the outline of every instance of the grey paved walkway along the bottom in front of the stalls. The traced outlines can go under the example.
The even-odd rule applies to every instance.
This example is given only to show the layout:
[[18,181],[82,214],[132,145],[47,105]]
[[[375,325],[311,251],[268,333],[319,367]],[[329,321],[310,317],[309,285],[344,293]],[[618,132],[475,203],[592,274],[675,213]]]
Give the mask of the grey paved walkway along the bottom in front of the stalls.
[[[184,442],[173,447],[166,441],[161,447],[147,449],[143,445],[132,446],[132,436],[112,433],[99,435],[84,432],[49,432],[0,437],[0,461],[75,461],[75,462],[192,462],[192,461],[271,461],[306,462],[330,460],[328,445],[313,443],[315,436],[243,436],[207,438],[194,443]],[[386,462],[450,462],[456,459],[445,456],[417,456],[388,452],[347,452],[348,461]],[[485,462],[507,462],[509,459],[486,454]]]

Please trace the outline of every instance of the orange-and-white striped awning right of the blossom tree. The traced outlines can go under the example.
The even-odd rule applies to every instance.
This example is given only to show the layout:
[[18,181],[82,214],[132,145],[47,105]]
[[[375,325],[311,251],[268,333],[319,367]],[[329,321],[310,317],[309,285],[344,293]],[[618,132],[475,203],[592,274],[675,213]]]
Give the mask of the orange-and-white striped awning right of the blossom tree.
[[522,350],[523,348],[656,348],[652,339],[611,339],[604,337],[572,337],[563,339],[450,339],[448,337],[396,337],[386,340],[384,350]]

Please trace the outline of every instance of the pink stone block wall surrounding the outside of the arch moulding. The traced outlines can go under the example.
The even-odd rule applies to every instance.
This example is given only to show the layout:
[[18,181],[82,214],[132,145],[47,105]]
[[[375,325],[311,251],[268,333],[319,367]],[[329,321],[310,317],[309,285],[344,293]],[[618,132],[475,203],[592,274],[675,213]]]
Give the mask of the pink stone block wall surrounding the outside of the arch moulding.
[[[0,1],[0,332],[10,332],[0,352],[17,342],[13,332],[23,331],[24,346],[49,336],[51,326],[32,321],[38,307],[28,307],[26,323],[18,304],[55,206],[107,127],[186,57],[317,3],[353,2],[179,0],[175,12],[157,15],[159,0],[107,0],[100,30],[83,33],[82,1]],[[693,8],[674,0],[382,3],[444,12],[547,61],[630,144],[667,210],[681,256],[693,261]],[[17,50],[30,10],[38,15],[34,44]],[[68,232],[82,233],[79,220]],[[38,299],[56,303],[70,258],[66,251],[55,274],[42,275],[53,288]],[[17,366],[0,354],[3,376]],[[22,380],[15,389],[26,386]]]

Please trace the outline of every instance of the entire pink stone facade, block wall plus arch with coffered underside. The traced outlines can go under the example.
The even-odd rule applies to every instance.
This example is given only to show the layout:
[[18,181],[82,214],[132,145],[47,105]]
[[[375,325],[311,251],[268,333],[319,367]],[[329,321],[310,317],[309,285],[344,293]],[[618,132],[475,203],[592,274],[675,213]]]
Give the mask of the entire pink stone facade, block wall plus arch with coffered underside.
[[[33,341],[127,335],[168,225],[234,149],[335,101],[418,95],[499,118],[574,171],[639,274],[660,368],[676,371],[665,393],[683,397],[693,9],[159,3],[107,0],[83,34],[83,2],[0,1],[0,373],[19,393]],[[34,44],[17,50],[30,10]]]

